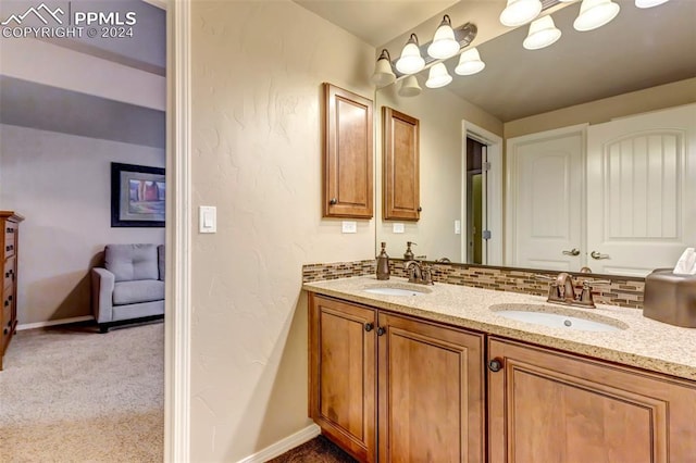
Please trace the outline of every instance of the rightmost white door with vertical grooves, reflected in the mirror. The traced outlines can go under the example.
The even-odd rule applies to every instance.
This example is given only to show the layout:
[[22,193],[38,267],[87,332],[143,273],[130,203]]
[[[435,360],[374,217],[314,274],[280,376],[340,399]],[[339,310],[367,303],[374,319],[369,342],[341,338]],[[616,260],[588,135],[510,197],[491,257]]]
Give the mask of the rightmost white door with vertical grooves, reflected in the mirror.
[[696,245],[696,104],[591,126],[587,262],[645,276]]

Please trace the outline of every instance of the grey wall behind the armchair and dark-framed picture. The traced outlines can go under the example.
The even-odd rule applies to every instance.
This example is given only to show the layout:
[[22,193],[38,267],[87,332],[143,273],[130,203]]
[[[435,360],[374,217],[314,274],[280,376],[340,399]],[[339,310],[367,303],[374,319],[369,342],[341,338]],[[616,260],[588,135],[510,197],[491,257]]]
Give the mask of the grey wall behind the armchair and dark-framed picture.
[[111,162],[164,167],[164,150],[0,125],[0,209],[20,230],[20,324],[90,315],[89,267],[110,242],[164,242],[164,228],[111,228]]

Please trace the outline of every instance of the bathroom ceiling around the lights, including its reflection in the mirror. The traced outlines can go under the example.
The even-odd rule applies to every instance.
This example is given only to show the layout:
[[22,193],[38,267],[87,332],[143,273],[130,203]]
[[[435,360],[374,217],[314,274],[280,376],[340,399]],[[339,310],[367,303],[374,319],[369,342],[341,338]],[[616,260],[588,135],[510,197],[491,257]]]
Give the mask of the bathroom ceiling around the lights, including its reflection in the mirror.
[[[432,10],[420,11],[418,4],[440,2],[296,1],[304,8],[311,7],[320,16],[376,47],[439,15],[440,7],[447,7],[438,5],[431,14]],[[456,3],[461,7],[489,1],[498,0],[461,0]],[[431,91],[452,91],[500,121],[509,122],[696,77],[696,0],[670,0],[651,9],[638,9],[634,0],[614,1],[621,5],[619,15],[606,26],[586,33],[572,27],[580,1],[556,9],[552,17],[563,35],[559,41],[542,50],[530,51],[522,47],[527,26],[476,42],[482,60],[486,62],[483,72],[474,76],[457,76],[453,74],[457,60],[450,59],[447,67],[455,77],[452,84],[444,89],[427,89],[424,86],[427,76],[422,73],[419,80],[423,93],[418,98],[427,98]],[[482,18],[480,24],[485,24],[484,20],[488,21]],[[477,24],[476,17],[452,23],[457,26],[467,21]],[[412,26],[405,28],[406,24]],[[387,32],[395,35],[385,39]],[[421,43],[430,39],[422,38]],[[389,51],[391,57],[396,57],[400,50]],[[696,93],[696,88],[694,91]]]

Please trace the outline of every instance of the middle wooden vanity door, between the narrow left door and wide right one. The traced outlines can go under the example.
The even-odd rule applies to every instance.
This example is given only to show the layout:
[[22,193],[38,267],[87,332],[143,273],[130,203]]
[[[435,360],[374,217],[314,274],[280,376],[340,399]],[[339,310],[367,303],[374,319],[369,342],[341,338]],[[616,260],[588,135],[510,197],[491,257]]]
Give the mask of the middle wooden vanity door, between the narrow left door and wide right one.
[[483,335],[378,321],[380,461],[483,462]]

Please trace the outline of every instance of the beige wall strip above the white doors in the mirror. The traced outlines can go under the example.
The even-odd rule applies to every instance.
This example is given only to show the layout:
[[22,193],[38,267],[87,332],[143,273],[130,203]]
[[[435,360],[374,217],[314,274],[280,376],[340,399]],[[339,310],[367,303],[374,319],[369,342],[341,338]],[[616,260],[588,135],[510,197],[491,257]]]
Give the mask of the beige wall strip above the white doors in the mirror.
[[519,137],[583,123],[600,124],[613,117],[693,102],[696,102],[696,77],[511,121],[505,124],[505,137]]

